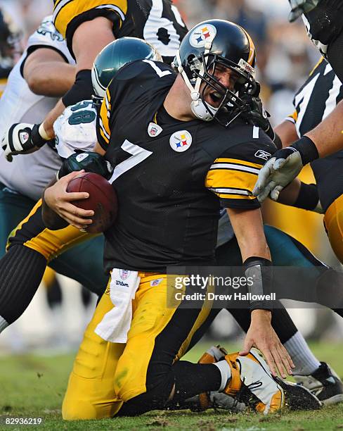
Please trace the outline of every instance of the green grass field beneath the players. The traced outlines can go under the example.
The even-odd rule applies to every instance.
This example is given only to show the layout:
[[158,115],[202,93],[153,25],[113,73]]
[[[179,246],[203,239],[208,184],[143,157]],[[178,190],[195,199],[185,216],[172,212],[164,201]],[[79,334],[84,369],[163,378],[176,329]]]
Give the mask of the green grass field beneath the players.
[[[188,358],[196,361],[209,346],[199,344]],[[319,359],[330,363],[343,376],[343,344],[314,344]],[[41,430],[343,430],[343,404],[321,411],[283,413],[262,417],[254,413],[152,412],[138,418],[115,418],[89,422],[64,422],[60,406],[72,367],[73,354],[62,356],[0,357],[0,430],[20,430],[24,425],[5,425],[4,418],[43,418]],[[32,425],[31,425],[32,427]]]

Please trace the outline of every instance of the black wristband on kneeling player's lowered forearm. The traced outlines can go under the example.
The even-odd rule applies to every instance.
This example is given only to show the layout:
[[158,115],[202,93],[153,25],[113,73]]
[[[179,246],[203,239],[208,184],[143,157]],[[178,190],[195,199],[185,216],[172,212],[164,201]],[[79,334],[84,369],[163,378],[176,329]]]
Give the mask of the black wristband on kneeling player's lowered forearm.
[[272,263],[266,258],[252,256],[243,263],[247,283],[250,311],[271,310]]

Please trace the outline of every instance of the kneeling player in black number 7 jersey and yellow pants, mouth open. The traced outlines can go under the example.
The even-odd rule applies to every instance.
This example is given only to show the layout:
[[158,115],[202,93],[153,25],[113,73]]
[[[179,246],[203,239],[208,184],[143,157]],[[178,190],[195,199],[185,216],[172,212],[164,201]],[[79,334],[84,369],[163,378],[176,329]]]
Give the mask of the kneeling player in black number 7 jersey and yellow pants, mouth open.
[[[273,374],[276,368],[281,375],[292,372],[292,360],[271,327],[270,304],[252,301],[243,356],[210,365],[175,361],[209,308],[186,310],[179,303],[166,308],[168,267],[214,262],[220,205],[230,215],[246,275],[258,275],[254,287],[261,292],[268,285],[263,268],[271,265],[270,254],[251,191],[263,163],[259,151],[271,154],[274,146],[259,127],[240,119],[245,108],[240,96],[256,91],[254,56],[245,30],[210,20],[183,39],[176,56],[179,74],[164,63],[134,62],[119,70],[108,87],[96,149],[115,168],[110,182],[119,199],[117,221],[105,232],[105,269],[111,277],[70,376],[65,418],[113,416],[119,408],[120,414],[135,415],[209,390],[236,394],[244,378],[262,402],[260,411],[283,405],[282,389],[273,380],[266,396],[266,381],[249,353],[258,346]],[[74,176],[46,189],[44,208],[83,228],[93,211],[72,205],[72,199],[87,196],[65,192]],[[131,310],[131,297],[128,325],[121,308]],[[246,361],[254,362],[258,393],[249,385]],[[236,367],[238,386],[231,378]]]

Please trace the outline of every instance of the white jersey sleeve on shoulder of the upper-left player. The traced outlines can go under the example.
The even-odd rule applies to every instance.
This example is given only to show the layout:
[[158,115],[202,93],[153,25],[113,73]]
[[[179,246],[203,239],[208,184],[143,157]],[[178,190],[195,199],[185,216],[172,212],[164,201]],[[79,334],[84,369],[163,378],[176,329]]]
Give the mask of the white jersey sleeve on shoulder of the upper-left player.
[[52,18],[52,15],[48,15],[41,21],[37,30],[29,37],[27,49],[35,45],[50,46],[60,51],[67,58],[68,63],[75,64],[75,60],[70,55],[69,49],[67,49],[67,42],[65,42],[63,36],[56,30]]

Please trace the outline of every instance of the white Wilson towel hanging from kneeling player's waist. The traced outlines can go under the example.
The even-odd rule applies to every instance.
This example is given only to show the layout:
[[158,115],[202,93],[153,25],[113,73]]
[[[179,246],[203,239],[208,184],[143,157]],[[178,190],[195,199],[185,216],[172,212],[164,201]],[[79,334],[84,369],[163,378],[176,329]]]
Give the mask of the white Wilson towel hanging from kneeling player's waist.
[[112,343],[126,343],[131,327],[132,299],[141,278],[137,271],[114,268],[111,274],[110,299],[114,307],[103,316],[95,329],[96,334]]

